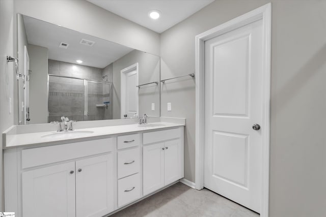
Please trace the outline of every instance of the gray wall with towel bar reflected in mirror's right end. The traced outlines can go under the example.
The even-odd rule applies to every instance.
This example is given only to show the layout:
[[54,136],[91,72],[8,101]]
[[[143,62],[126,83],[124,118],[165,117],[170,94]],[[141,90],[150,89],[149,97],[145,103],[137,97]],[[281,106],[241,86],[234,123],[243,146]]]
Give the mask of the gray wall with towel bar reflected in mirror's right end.
[[[138,63],[138,83],[159,82],[159,57],[133,50],[113,63],[113,119],[121,118],[121,70]],[[139,88],[139,115],[159,116],[159,85],[150,84]],[[155,103],[155,111],[151,104]]]

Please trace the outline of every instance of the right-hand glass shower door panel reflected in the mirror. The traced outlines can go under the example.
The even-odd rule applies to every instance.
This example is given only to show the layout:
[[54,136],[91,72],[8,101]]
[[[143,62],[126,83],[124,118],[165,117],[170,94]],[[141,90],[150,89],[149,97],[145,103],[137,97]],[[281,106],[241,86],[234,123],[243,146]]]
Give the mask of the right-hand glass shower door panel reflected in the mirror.
[[85,86],[87,92],[85,116],[87,120],[112,119],[112,83],[85,80]]

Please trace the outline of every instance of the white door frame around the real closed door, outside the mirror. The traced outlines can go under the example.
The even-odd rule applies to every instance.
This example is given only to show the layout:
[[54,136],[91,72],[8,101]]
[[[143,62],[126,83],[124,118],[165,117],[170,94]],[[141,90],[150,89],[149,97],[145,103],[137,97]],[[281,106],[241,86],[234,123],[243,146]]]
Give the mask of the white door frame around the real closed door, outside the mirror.
[[269,122],[270,122],[270,45],[271,45],[271,3],[236,17],[196,36],[196,189],[204,188],[204,73],[205,41],[223,35],[231,30],[257,20],[263,22],[263,118],[262,133],[262,191],[260,216],[268,216],[269,194]]

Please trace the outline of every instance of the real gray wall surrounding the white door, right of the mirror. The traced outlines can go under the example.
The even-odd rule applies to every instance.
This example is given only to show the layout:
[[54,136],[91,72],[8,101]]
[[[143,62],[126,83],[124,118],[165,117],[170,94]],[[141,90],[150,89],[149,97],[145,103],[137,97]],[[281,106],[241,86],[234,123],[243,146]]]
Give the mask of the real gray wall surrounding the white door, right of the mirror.
[[[267,1],[215,1],[161,34],[161,78],[195,71],[195,36]],[[326,216],[326,2],[272,1],[269,216]],[[172,111],[167,112],[167,102]],[[195,83],[162,86],[161,115],[185,117],[195,180]]]

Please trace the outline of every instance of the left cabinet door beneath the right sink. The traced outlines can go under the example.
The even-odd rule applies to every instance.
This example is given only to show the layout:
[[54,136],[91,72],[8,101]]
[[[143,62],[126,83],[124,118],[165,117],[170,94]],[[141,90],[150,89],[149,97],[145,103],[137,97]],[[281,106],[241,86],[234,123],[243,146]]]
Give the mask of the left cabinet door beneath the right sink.
[[164,187],[164,143],[143,147],[143,191],[150,194]]

